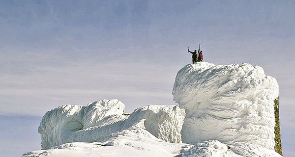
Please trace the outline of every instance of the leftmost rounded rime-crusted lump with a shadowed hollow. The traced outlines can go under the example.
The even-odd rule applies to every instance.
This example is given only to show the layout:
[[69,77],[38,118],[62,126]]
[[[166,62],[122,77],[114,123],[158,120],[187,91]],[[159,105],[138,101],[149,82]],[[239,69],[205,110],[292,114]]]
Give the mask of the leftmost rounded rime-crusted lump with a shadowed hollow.
[[[120,123],[122,119],[126,119],[122,115],[124,107],[125,105],[118,100],[101,100],[87,106],[61,105],[52,109],[43,116],[38,128],[42,140],[41,147],[48,149],[68,142],[100,140],[111,131],[120,129],[110,125],[102,127],[101,122],[108,119],[108,122]],[[96,134],[91,133],[94,130]]]

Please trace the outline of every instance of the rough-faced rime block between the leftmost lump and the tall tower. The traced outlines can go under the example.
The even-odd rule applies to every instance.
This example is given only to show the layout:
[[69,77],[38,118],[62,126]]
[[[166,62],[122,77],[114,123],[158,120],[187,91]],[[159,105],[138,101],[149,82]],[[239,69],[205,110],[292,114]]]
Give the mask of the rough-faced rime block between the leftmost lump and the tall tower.
[[147,119],[145,127],[151,134],[164,141],[180,143],[184,117],[184,109],[178,106],[148,105],[136,109],[128,121]]

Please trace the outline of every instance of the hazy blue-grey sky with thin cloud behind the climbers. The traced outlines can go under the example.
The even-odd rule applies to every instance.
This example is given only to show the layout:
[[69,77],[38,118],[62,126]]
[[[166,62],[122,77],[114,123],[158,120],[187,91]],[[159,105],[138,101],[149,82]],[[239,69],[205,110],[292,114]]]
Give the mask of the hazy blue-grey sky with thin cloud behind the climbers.
[[204,61],[277,79],[283,155],[295,156],[294,16],[293,0],[0,0],[0,157],[40,149],[39,122],[59,105],[175,105],[199,44]]

